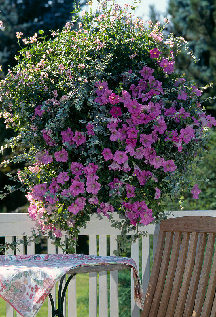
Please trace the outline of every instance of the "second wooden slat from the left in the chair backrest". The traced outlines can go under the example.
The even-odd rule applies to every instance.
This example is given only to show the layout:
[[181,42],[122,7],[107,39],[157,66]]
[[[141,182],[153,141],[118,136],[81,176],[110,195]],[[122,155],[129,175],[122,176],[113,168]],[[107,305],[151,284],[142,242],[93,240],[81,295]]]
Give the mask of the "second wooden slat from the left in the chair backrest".
[[150,316],[157,315],[157,311],[158,311],[158,308],[160,305],[163,287],[164,287],[165,279],[167,276],[170,254],[171,254],[172,245],[173,245],[173,234],[174,234],[173,232],[167,233],[166,243],[165,243],[162,262],[161,262],[160,273],[159,273],[159,277],[158,277],[158,281],[157,281],[157,285],[156,285],[155,295],[153,298],[154,303],[152,303],[152,306],[150,309]]

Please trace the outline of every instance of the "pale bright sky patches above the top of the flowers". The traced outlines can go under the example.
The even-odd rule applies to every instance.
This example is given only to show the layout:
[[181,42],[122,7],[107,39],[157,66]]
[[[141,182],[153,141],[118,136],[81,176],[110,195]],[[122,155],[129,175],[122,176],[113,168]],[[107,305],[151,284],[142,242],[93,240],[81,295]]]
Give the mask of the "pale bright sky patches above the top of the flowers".
[[[134,3],[134,1],[132,0],[117,0],[115,2],[118,3],[120,6],[124,6],[125,3]],[[97,4],[97,0],[93,0],[93,8],[96,8]],[[154,5],[156,11],[161,12],[162,19],[166,16],[168,0],[142,0],[135,11],[136,16],[139,16],[145,21],[149,20],[149,5]]]

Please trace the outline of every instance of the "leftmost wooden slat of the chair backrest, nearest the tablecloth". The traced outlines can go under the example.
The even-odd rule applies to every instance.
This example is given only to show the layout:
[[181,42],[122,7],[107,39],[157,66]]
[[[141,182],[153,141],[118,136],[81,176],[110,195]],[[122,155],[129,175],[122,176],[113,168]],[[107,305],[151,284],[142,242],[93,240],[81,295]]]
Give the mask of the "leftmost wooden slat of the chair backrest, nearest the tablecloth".
[[166,232],[160,231],[157,241],[157,247],[153,262],[153,267],[151,271],[151,276],[149,279],[149,286],[147,288],[145,301],[144,301],[144,310],[141,312],[140,317],[147,317],[151,308],[151,303],[154,297],[155,288],[157,284],[158,274],[161,267],[161,260],[163,255],[164,242],[166,238]]

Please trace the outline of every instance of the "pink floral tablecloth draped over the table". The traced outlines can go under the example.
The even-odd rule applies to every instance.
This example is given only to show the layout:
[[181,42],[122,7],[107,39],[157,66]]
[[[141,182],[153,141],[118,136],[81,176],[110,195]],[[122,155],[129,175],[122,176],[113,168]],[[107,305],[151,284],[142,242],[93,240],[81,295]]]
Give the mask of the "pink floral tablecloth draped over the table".
[[34,317],[56,281],[70,269],[100,264],[129,264],[133,268],[135,301],[143,309],[143,289],[134,260],[115,256],[0,256],[0,296],[23,317]]

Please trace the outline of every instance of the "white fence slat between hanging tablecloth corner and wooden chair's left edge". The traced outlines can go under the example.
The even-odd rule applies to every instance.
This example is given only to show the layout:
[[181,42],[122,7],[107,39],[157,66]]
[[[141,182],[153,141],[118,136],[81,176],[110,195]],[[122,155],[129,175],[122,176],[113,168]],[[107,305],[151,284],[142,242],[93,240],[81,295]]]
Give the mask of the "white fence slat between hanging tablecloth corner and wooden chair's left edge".
[[150,278],[150,245],[149,245],[149,235],[142,237],[142,285],[143,285],[143,295],[147,292],[149,278]]

